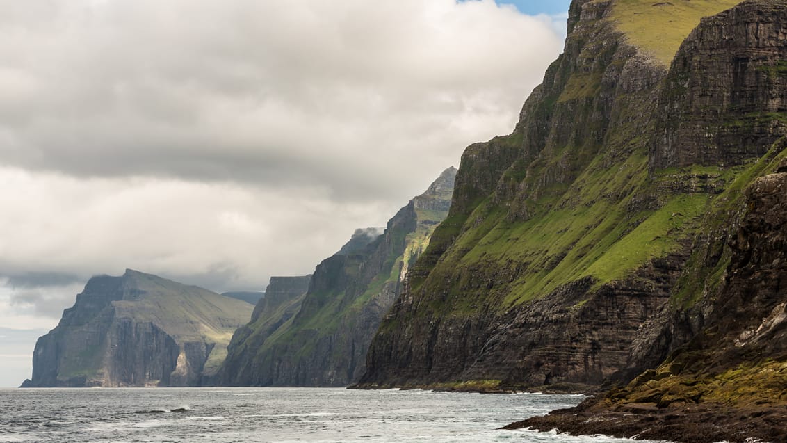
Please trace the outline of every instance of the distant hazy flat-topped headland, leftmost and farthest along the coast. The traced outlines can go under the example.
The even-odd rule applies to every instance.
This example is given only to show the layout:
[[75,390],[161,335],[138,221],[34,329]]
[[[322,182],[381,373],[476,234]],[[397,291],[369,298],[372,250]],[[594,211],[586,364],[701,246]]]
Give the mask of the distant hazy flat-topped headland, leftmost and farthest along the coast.
[[130,269],[93,277],[35,344],[32,380],[24,386],[209,384],[252,308]]

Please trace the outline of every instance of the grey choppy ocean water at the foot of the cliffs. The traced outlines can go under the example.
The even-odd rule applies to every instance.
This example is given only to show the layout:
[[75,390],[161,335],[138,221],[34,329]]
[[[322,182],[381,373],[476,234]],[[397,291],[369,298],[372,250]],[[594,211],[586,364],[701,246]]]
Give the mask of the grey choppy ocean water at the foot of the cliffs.
[[0,441],[626,441],[497,430],[582,398],[310,388],[0,389]]

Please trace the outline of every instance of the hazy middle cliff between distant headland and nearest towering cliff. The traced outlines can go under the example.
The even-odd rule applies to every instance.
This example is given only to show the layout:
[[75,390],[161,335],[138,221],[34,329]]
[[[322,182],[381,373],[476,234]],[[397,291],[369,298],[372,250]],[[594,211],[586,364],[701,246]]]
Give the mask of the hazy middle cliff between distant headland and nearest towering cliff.
[[[238,330],[222,370],[228,386],[346,386],[364,372],[369,342],[412,263],[445,218],[456,168],[391,218],[357,230],[323,260],[294,315]],[[265,299],[268,300],[269,293]],[[257,312],[255,310],[255,312]],[[253,331],[253,332],[251,332]]]

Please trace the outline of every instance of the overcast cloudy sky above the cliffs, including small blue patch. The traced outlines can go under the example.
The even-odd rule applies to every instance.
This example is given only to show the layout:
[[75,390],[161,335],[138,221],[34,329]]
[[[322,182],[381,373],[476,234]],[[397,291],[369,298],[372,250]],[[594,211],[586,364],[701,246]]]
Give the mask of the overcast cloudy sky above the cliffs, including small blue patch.
[[0,0],[0,386],[91,275],[264,290],[385,226],[512,131],[568,3]]

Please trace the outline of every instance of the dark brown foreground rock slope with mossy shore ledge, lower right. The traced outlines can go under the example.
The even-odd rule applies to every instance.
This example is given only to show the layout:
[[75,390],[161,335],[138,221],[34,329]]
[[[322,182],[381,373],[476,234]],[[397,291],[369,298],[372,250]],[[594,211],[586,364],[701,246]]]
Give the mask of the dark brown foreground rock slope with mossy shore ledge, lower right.
[[[684,277],[698,283],[676,293],[660,340],[650,343],[681,346],[626,387],[512,428],[699,443],[785,440],[785,139],[752,167],[752,176],[722,194],[734,211],[725,205],[709,214],[719,224],[698,240],[720,242],[697,242],[696,265]],[[715,258],[708,254],[713,249],[721,252]],[[673,334],[687,329],[696,333]]]

